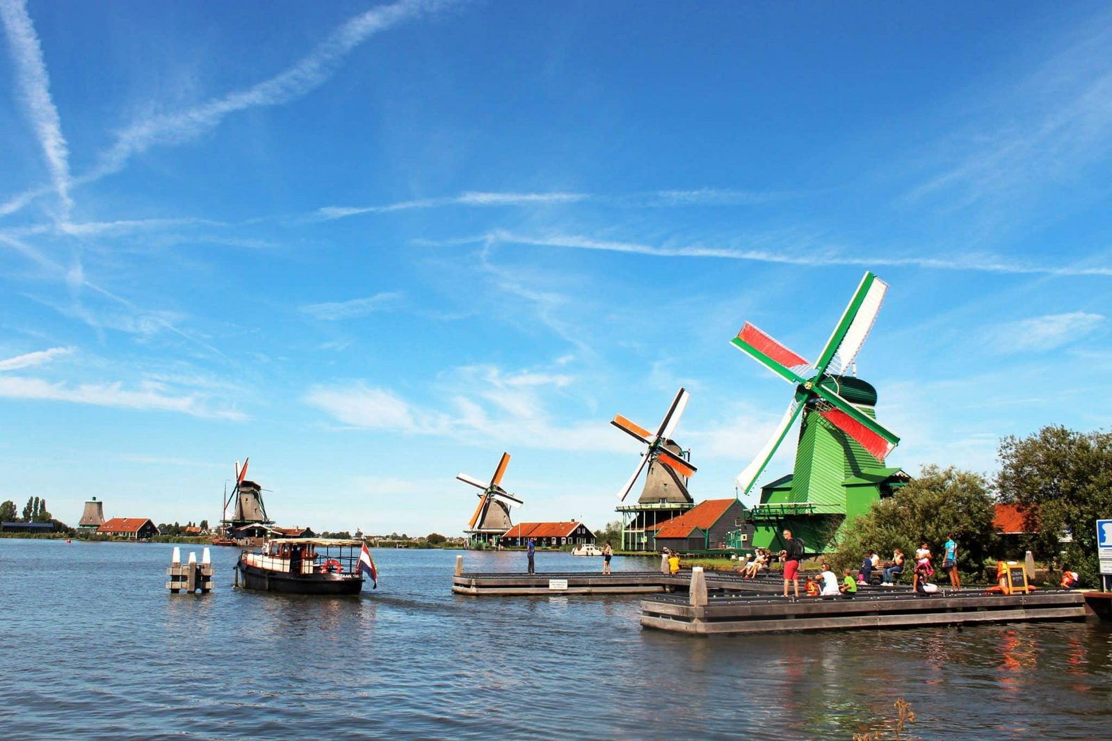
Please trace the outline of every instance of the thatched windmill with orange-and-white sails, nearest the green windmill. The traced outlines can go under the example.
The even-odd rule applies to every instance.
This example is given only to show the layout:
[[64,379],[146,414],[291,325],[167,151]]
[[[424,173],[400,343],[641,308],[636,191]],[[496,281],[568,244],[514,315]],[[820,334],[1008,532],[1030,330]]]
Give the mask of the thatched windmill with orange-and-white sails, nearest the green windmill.
[[695,473],[695,467],[689,460],[691,452],[684,451],[672,439],[679,418],[687,408],[689,395],[686,389],[676,392],[655,434],[620,414],[610,422],[646,445],[633,475],[618,492],[618,501],[624,502],[642,471],[648,467],[637,503],[617,507],[617,511],[623,513],[622,548],[625,550],[655,550],[652,542],[655,528],[695,505],[687,492],[687,480]]

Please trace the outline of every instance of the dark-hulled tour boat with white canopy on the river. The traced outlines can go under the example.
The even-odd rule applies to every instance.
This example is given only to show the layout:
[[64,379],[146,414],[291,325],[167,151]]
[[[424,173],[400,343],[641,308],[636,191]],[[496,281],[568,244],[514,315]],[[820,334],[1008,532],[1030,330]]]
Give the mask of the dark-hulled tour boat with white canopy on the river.
[[239,554],[236,585],[287,594],[358,594],[364,571],[376,578],[361,540],[275,538]]

